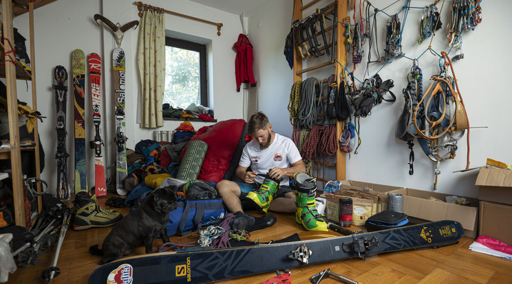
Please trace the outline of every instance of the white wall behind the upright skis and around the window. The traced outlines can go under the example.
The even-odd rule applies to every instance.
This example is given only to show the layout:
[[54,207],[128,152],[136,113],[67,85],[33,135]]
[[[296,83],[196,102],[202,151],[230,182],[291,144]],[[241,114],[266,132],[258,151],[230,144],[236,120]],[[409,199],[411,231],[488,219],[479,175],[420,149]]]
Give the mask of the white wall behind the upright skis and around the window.
[[[231,118],[242,118],[242,95],[236,93],[235,84],[235,51],[233,43],[237,36],[242,32],[239,22],[239,16],[215,10],[213,8],[200,5],[191,1],[152,1],[149,3],[167,10],[189,14],[199,18],[207,19],[213,22],[223,23],[221,36],[217,36],[217,27],[207,25],[189,19],[183,19],[170,14],[166,15],[166,29],[169,31],[190,34],[195,37],[209,40],[209,68],[211,77],[209,78],[210,95],[213,93],[213,102],[215,107],[215,119],[222,121]],[[103,140],[105,141],[105,165],[110,165],[115,161],[114,139],[114,101],[111,95],[111,51],[116,47],[114,37],[109,32],[108,27],[99,27],[94,22],[94,14],[103,14],[113,23],[128,23],[129,21],[139,20],[138,10],[134,1],[58,1],[50,3],[34,12],[35,23],[35,60],[36,64],[36,86],[38,93],[38,110],[47,119],[39,123],[39,133],[43,145],[45,157],[45,169],[41,177],[47,180],[52,192],[56,188],[56,161],[54,158],[56,150],[55,125],[56,117],[53,84],[53,69],[61,64],[71,71],[71,54],[74,49],[82,49],[86,56],[92,52],[100,54],[103,59],[103,82],[102,82],[102,103],[103,103]],[[14,19],[14,26],[19,32],[29,38],[28,14]],[[141,139],[152,139],[153,130],[140,128],[137,122],[136,114],[139,112],[139,73],[136,65],[136,52],[138,42],[138,32],[140,29],[130,29],[125,33],[122,40],[122,48],[125,49],[127,56],[127,93],[126,93],[126,135],[129,138],[127,147],[134,148],[135,144]],[[28,45],[28,43],[27,43]],[[71,76],[70,76],[71,78]],[[69,83],[69,81],[68,81]],[[89,84],[87,76],[86,86]],[[71,86],[71,84],[70,84]],[[19,98],[25,102],[31,102],[30,82],[27,92],[24,82],[18,82]],[[70,87],[67,101],[67,151],[70,153],[68,158],[68,171],[70,186],[73,188],[74,176],[74,118],[73,118],[73,91]],[[92,105],[90,103],[89,89],[86,95],[86,140],[93,137],[93,125],[91,119]],[[180,124],[180,121],[164,121],[164,127],[158,130],[174,130]],[[202,126],[211,125],[205,122],[192,122],[196,130]],[[94,152],[87,149],[87,185],[94,185]],[[115,169],[115,168],[114,168]],[[111,169],[107,169],[107,177],[111,174]]]

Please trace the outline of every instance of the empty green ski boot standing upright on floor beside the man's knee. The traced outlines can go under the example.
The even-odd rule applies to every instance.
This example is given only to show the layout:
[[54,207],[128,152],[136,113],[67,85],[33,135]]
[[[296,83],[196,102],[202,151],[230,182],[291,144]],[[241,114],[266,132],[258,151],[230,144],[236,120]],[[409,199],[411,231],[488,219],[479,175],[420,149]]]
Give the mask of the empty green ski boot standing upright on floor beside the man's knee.
[[295,222],[302,224],[306,230],[327,230],[327,223],[318,213],[314,204],[317,191],[316,178],[297,173],[295,178]]

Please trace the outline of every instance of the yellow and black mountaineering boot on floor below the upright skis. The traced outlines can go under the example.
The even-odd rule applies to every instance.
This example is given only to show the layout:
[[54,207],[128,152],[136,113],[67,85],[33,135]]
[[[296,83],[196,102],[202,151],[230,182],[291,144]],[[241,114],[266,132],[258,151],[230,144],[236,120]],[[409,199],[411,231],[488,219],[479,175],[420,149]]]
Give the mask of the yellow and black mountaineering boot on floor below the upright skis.
[[121,213],[101,207],[96,196],[88,196],[85,191],[76,193],[74,204],[74,230],[112,226],[122,219]]

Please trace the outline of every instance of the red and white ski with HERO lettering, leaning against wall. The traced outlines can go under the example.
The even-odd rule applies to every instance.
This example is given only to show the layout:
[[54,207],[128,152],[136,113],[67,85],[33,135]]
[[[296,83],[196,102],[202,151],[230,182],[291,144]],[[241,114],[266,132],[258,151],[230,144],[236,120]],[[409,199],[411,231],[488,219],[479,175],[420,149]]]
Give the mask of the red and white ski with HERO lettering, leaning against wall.
[[103,140],[101,139],[101,58],[98,54],[89,54],[89,82],[92,98],[92,121],[94,124],[94,193],[97,197],[107,195],[105,182],[105,163],[103,161]]

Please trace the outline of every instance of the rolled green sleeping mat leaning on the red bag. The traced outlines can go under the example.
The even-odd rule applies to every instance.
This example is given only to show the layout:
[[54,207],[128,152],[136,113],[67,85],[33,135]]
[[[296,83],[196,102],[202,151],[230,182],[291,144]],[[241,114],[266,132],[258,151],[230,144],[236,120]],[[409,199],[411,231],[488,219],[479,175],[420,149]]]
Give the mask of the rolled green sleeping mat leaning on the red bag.
[[197,179],[204,161],[204,156],[206,156],[206,150],[208,150],[208,144],[205,142],[200,140],[190,141],[189,145],[186,147],[186,152],[176,178],[180,180]]

